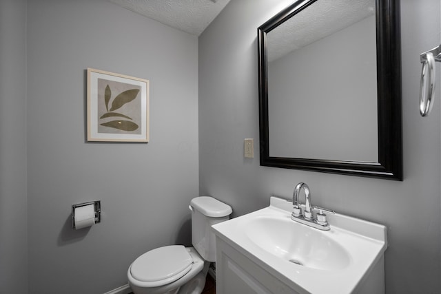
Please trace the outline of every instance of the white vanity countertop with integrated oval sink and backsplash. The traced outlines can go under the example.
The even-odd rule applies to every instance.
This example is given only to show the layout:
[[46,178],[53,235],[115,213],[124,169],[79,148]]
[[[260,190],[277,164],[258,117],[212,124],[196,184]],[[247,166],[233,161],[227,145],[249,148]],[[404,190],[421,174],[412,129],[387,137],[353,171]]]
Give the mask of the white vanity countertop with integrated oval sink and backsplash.
[[291,211],[291,202],[271,197],[269,207],[215,224],[214,233],[298,293],[358,293],[371,272],[384,281],[386,227],[336,213],[320,231],[291,220]]

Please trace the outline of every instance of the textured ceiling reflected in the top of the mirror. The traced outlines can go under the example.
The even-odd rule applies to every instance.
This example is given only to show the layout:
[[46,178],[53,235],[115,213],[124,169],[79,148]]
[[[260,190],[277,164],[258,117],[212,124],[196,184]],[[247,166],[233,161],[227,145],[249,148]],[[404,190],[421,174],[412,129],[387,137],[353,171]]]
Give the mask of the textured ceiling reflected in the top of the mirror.
[[268,61],[375,14],[375,0],[320,0],[267,34]]

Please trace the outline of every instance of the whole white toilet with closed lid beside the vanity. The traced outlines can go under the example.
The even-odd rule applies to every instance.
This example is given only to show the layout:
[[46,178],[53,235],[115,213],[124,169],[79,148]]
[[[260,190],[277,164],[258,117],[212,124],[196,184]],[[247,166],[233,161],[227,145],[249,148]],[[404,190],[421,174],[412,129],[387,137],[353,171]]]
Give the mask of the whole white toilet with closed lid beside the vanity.
[[216,262],[213,224],[229,219],[232,208],[212,197],[193,198],[192,244],[163,246],[130,265],[127,277],[134,294],[200,294],[211,262]]

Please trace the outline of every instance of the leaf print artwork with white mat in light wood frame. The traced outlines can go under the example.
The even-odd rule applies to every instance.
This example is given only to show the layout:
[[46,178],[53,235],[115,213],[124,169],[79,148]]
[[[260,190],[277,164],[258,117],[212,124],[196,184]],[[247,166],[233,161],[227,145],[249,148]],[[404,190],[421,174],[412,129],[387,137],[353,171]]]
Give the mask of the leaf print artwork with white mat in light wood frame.
[[149,81],[88,68],[88,141],[148,140]]

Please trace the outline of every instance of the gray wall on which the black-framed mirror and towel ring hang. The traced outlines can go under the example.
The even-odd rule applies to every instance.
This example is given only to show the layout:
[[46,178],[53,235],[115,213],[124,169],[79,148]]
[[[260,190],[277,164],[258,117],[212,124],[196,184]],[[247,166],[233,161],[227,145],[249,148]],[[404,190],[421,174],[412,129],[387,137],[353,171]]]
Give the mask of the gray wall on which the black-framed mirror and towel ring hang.
[[387,293],[440,293],[439,87],[431,116],[418,112],[419,54],[440,43],[440,1],[401,1],[403,182],[260,167],[257,144],[243,158],[243,139],[258,141],[256,28],[290,2],[232,0],[199,38],[201,194],[240,216],[307,182],[314,204],[387,225]]

